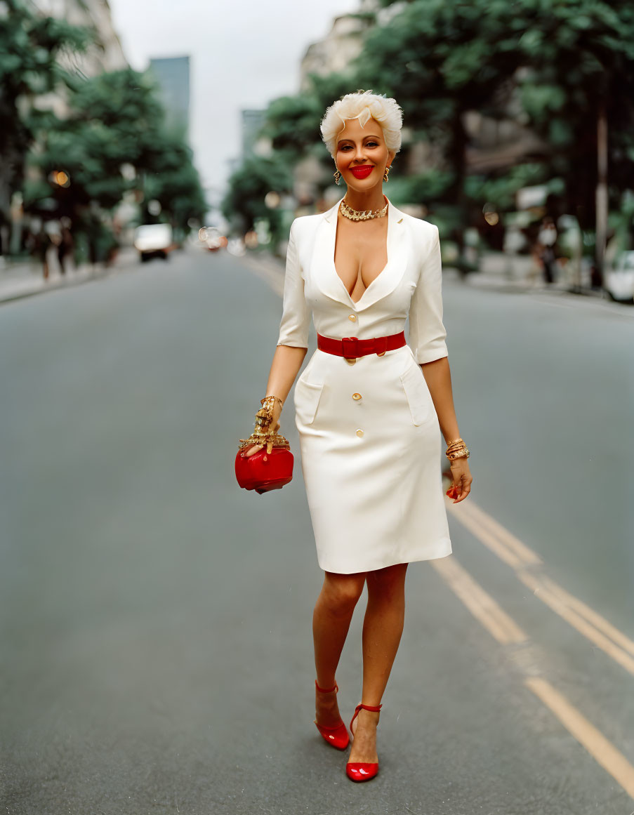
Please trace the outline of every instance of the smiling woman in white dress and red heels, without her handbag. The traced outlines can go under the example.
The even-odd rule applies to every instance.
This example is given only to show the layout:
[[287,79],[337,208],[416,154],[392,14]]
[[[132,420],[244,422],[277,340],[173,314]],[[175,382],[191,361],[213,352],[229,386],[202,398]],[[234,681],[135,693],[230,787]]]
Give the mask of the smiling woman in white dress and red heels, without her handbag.
[[363,690],[346,764],[353,781],[378,772],[376,725],[403,632],[407,564],[451,554],[440,430],[455,503],[469,495],[472,482],[451,393],[438,228],[401,212],[382,192],[400,148],[401,122],[394,99],[369,90],[328,108],[321,133],[346,196],[325,214],[293,222],[266,385],[277,430],[306,355],[312,311],[318,347],[297,381],[294,403],[325,572],[313,617],[315,725],[332,747],[348,746],[335,672],[367,583]]

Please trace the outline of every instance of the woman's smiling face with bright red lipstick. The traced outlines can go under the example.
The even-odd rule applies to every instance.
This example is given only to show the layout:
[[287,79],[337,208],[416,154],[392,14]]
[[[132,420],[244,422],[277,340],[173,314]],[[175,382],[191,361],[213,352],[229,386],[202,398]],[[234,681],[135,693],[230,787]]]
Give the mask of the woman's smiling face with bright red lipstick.
[[381,185],[385,167],[390,166],[393,158],[376,119],[368,119],[363,127],[359,119],[346,119],[346,126],[337,135],[335,164],[348,187],[368,192]]

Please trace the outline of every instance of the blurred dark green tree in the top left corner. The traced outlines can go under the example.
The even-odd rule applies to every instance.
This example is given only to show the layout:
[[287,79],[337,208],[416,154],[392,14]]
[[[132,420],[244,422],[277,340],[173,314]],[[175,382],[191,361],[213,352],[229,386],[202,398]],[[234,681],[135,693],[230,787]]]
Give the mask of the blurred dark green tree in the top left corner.
[[[0,215],[24,179],[24,161],[46,112],[37,99],[68,81],[59,56],[81,51],[89,29],[42,15],[23,0],[0,2]],[[2,252],[2,246],[0,246]]]

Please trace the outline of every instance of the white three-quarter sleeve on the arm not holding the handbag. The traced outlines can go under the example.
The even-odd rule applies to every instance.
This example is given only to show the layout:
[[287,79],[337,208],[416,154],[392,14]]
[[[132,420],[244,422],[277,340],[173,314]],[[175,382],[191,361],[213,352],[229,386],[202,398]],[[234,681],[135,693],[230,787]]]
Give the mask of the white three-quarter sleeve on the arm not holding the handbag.
[[434,226],[432,249],[420,268],[409,311],[409,346],[419,364],[448,356],[442,324],[442,267],[440,236]]

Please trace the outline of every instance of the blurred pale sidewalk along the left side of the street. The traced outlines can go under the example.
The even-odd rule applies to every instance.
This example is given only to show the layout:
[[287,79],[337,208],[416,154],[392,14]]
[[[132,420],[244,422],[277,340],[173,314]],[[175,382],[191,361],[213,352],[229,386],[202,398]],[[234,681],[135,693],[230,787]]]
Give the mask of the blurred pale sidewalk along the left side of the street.
[[30,297],[33,294],[51,292],[54,289],[66,289],[90,280],[99,280],[124,269],[135,267],[138,262],[138,253],[133,247],[126,246],[119,251],[117,259],[111,266],[106,267],[103,266],[103,263],[97,263],[93,267],[85,263],[79,267],[69,266],[66,274],[62,275],[55,253],[51,253],[48,280],[44,280],[41,262],[35,260],[11,262],[0,258],[0,303],[20,300],[22,297]]

